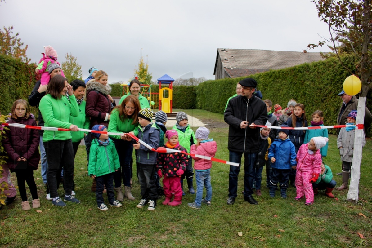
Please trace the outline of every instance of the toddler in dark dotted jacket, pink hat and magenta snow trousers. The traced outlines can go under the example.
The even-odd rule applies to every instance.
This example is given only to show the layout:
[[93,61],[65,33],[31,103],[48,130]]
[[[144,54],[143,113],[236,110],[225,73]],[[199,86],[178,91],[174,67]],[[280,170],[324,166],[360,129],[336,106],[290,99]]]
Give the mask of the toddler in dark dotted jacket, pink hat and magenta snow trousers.
[[[164,147],[179,150],[180,152],[159,153],[156,164],[157,175],[159,178],[164,175],[163,188],[165,200],[163,205],[178,206],[182,203],[181,175],[185,173],[186,166],[189,162],[189,156],[181,153],[181,151],[187,151],[180,146],[176,130],[167,130],[165,136],[168,142]],[[174,199],[171,201],[173,196]]]

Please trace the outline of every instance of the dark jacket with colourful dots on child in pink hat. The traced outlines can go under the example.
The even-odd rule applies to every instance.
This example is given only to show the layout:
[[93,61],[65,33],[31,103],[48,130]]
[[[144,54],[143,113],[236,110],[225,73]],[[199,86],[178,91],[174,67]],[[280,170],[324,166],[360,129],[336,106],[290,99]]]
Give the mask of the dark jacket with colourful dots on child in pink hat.
[[[167,148],[166,145],[164,147]],[[186,149],[180,146],[180,144],[172,149],[186,152]],[[156,170],[162,170],[163,175],[166,175],[167,177],[179,177],[176,172],[179,169],[183,171],[186,170],[186,166],[189,163],[188,157],[189,156],[181,152],[158,153]]]

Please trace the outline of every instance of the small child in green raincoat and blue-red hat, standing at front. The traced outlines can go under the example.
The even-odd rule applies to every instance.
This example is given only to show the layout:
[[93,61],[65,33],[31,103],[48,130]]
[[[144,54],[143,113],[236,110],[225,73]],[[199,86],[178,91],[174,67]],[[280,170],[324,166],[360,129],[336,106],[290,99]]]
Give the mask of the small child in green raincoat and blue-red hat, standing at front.
[[[107,132],[105,125],[94,125],[92,130]],[[96,179],[96,199],[99,210],[107,211],[108,207],[103,200],[103,185],[106,185],[107,197],[110,206],[121,207],[121,203],[115,200],[114,172],[120,168],[119,155],[115,143],[108,134],[92,133],[92,146],[90,146],[88,175]]]

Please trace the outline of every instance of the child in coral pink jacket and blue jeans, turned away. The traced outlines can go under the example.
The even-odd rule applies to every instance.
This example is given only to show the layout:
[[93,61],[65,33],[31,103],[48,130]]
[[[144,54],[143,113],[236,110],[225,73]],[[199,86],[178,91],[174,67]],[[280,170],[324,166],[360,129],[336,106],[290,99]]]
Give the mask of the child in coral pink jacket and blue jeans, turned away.
[[[196,129],[195,138],[198,141],[190,148],[190,153],[193,155],[203,155],[206,157],[214,157],[217,151],[217,143],[213,139],[209,139],[209,129],[200,127]],[[212,199],[211,185],[211,168],[212,161],[203,158],[191,156],[194,160],[195,178],[196,178],[196,197],[195,202],[187,203],[187,206],[200,209],[202,203],[210,206]],[[206,189],[205,199],[203,198],[203,186]]]

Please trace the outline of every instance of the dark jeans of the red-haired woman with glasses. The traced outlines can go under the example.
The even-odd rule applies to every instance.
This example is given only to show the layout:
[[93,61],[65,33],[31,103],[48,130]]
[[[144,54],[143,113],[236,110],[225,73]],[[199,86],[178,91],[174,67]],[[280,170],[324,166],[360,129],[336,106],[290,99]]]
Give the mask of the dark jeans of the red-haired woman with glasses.
[[115,171],[114,181],[115,188],[121,186],[121,179],[125,186],[131,186],[131,159],[133,152],[133,144],[122,139],[112,139],[115,143],[116,151],[119,155],[120,169]]

